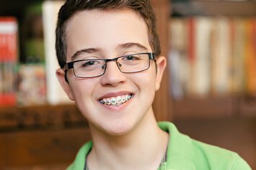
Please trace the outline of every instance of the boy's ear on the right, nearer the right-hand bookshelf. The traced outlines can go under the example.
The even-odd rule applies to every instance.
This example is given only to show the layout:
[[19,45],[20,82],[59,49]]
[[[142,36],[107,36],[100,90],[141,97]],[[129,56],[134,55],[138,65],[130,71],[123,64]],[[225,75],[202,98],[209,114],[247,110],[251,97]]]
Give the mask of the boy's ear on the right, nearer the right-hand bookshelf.
[[156,72],[156,90],[159,90],[160,84],[162,81],[162,77],[164,74],[164,69],[167,65],[167,59],[164,56],[160,56],[156,58],[156,67],[157,67],[157,72]]

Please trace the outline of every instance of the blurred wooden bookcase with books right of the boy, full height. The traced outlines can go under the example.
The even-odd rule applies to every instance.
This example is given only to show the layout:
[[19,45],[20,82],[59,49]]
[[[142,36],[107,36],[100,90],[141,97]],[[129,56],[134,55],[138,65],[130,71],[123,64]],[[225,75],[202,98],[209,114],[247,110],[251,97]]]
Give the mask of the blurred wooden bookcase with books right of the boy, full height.
[[172,1],[172,118],[256,169],[256,1]]

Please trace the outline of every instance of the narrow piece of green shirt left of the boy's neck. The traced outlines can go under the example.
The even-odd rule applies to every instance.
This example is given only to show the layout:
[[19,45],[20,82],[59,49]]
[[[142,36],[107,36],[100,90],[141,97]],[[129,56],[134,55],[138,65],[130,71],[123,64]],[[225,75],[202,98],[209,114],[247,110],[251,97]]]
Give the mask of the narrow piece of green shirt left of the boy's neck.
[[76,159],[74,162],[67,168],[67,170],[76,170],[76,169],[84,169],[85,159],[89,151],[92,149],[92,141],[89,141],[81,146],[79,152],[76,154]]

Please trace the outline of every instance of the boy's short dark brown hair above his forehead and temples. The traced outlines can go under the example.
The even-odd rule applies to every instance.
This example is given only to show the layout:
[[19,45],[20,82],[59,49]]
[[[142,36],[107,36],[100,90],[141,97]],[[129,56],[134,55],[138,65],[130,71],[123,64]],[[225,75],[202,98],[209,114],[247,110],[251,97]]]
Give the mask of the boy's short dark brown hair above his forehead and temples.
[[78,11],[89,9],[132,9],[146,22],[149,44],[156,56],[160,55],[159,37],[156,33],[156,17],[149,0],[67,0],[58,12],[56,27],[56,53],[61,67],[66,64],[66,23]]

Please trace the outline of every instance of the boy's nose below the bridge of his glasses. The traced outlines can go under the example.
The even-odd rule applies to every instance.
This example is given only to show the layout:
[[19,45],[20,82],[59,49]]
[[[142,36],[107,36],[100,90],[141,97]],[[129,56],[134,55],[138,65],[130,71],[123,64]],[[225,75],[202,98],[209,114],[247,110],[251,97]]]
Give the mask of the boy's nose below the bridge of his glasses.
[[120,72],[118,63],[115,61],[107,62],[105,74],[101,77],[101,83],[104,86],[117,86],[126,81],[126,75]]

